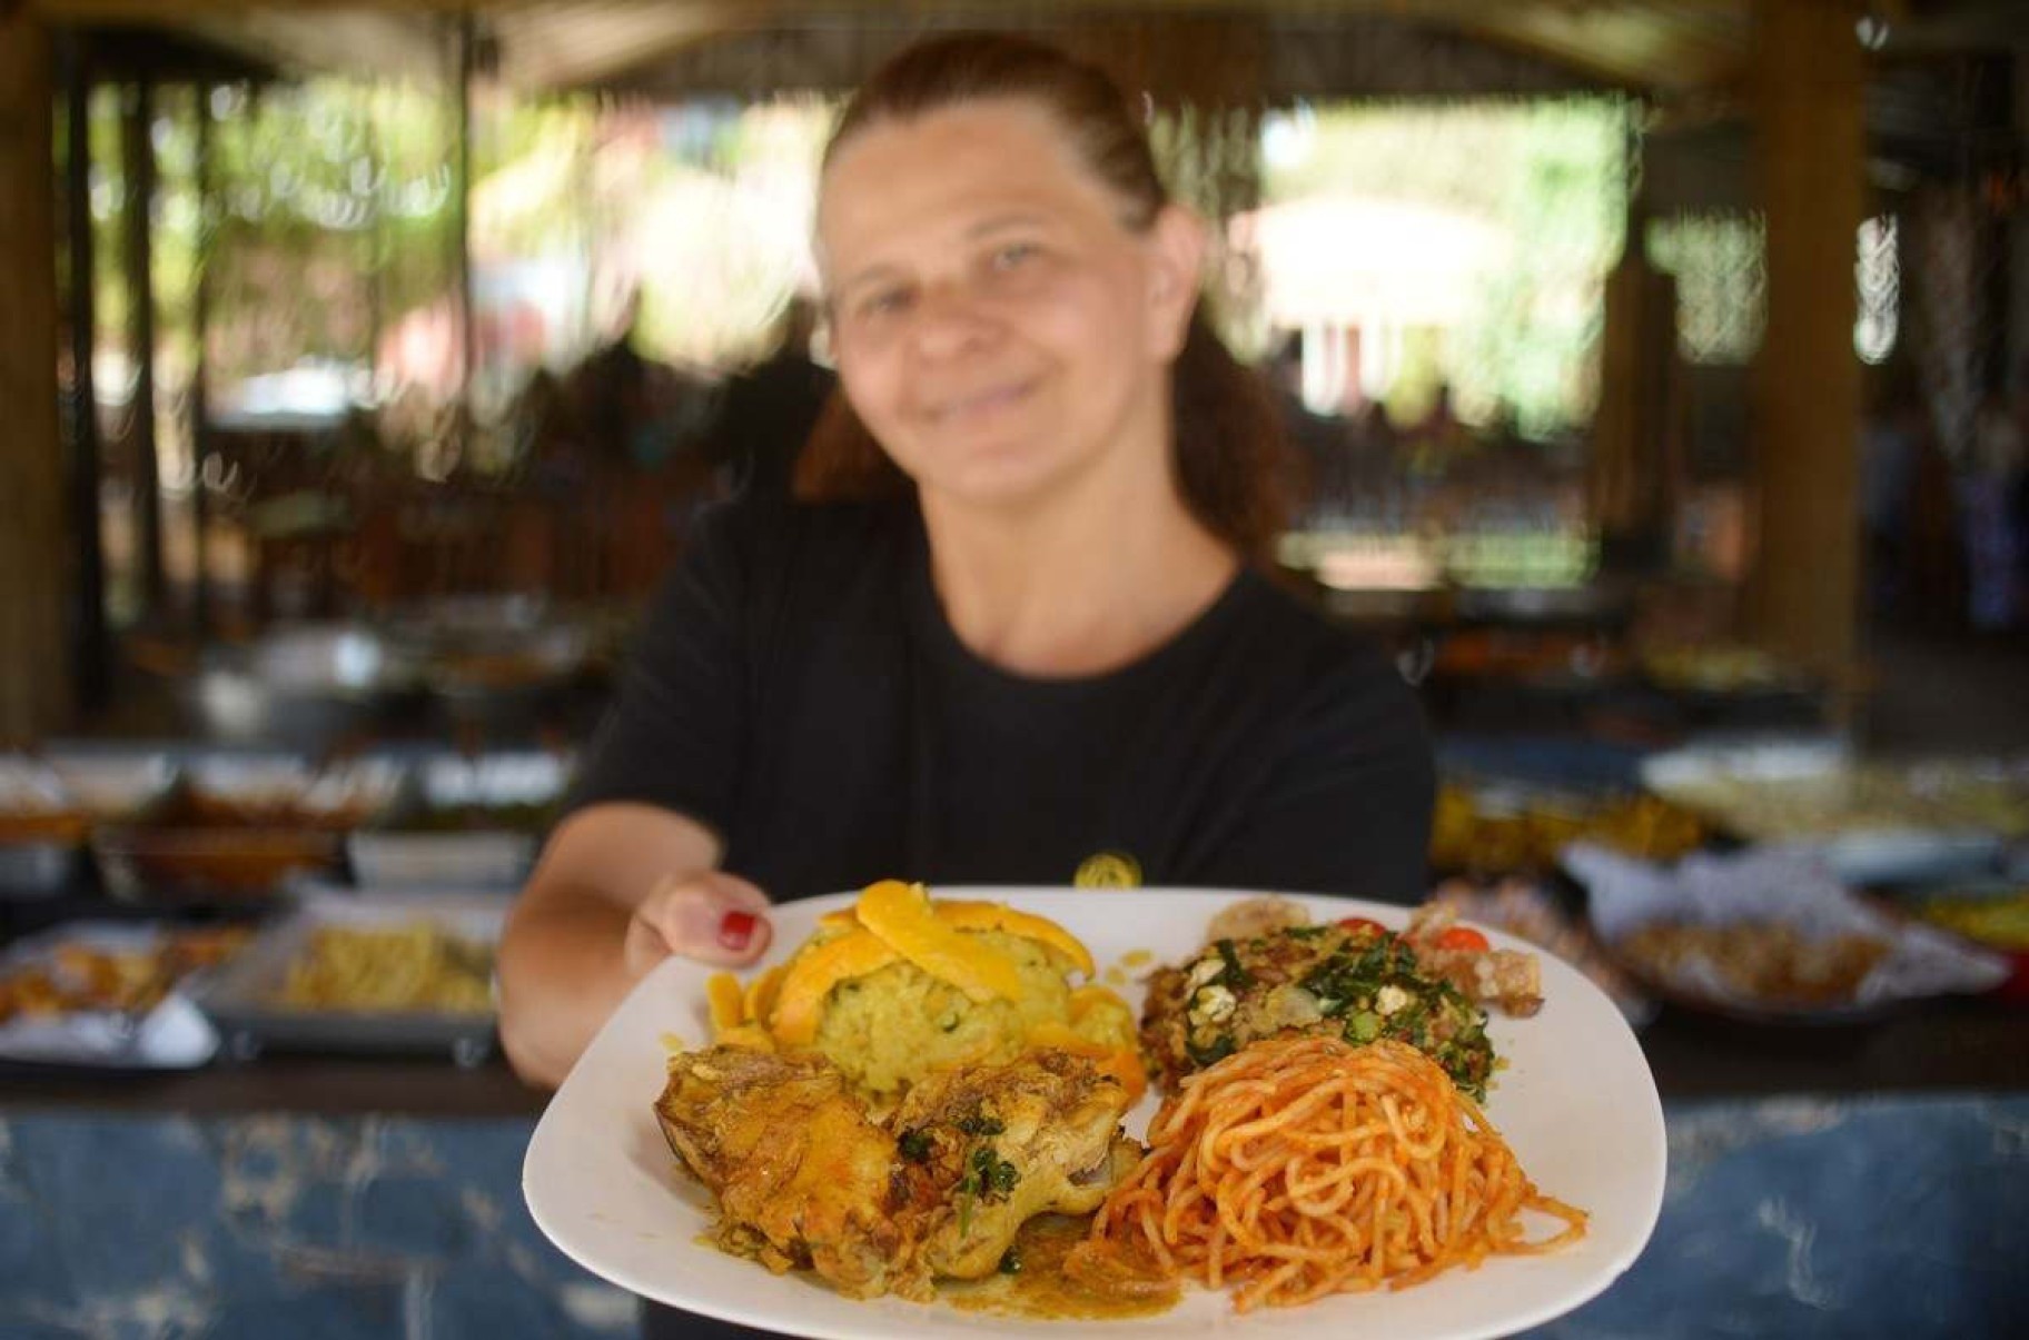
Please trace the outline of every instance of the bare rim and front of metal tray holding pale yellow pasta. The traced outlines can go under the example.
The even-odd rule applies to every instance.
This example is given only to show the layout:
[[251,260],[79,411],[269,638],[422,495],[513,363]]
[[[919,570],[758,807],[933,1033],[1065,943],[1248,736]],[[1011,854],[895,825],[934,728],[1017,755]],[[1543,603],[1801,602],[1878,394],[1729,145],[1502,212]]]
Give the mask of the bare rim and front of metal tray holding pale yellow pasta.
[[444,1054],[461,1066],[495,1046],[495,1012],[298,1010],[282,1003],[290,963],[323,926],[430,922],[465,941],[499,943],[507,898],[499,894],[337,894],[306,890],[233,963],[191,983],[191,999],[219,1030],[225,1054],[250,1060],[264,1050]]

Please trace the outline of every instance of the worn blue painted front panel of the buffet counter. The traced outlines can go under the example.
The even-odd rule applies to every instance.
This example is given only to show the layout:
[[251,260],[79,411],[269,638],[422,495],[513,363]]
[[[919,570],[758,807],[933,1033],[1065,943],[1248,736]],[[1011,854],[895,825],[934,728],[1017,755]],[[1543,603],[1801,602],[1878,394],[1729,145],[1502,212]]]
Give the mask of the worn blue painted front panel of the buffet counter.
[[[631,1336],[521,1206],[530,1129],[0,1107],[0,1338]],[[1674,1101],[1668,1129],[1648,1253],[1532,1334],[2029,1336],[2029,1095]]]

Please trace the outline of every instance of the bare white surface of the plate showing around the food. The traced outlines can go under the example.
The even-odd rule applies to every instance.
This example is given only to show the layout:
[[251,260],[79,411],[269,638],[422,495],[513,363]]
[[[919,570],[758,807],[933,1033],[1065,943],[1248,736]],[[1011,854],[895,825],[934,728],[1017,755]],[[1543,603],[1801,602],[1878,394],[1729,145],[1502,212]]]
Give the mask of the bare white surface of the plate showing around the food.
[[[1157,963],[1197,949],[1211,914],[1240,894],[1205,890],[937,888],[935,896],[996,898],[1061,922],[1114,965],[1134,949]],[[775,943],[763,963],[787,957],[822,912],[852,894],[775,910]],[[1372,916],[1406,922],[1406,908],[1303,898],[1319,918]],[[1489,933],[1508,949],[1522,941]],[[1489,1115],[1544,1194],[1591,1212],[1587,1237],[1546,1257],[1495,1259],[1451,1271],[1400,1293],[1339,1295],[1297,1310],[1236,1316],[1226,1293],[1193,1289],[1173,1312],[1122,1322],[1033,1322],[964,1314],[943,1304],[893,1297],[852,1301],[799,1275],[706,1245],[710,1196],[676,1166],[653,1103],[663,1085],[663,1038],[708,1036],[704,981],[712,969],[670,961],[649,973],[564,1078],[536,1125],[521,1166],[521,1192],[536,1224],[578,1265],[686,1312],[820,1340],[907,1336],[1388,1336],[1473,1340],[1536,1326],[1591,1299],[1633,1265],[1656,1226],[1664,1186],[1662,1103],[1648,1060],[1619,1010],[1560,959],[1542,955],[1544,1008],[1532,1020],[1495,1016],[1493,1046],[1508,1060]],[[1126,989],[1140,1008],[1140,985]],[[1155,1111],[1128,1113],[1138,1135]]]

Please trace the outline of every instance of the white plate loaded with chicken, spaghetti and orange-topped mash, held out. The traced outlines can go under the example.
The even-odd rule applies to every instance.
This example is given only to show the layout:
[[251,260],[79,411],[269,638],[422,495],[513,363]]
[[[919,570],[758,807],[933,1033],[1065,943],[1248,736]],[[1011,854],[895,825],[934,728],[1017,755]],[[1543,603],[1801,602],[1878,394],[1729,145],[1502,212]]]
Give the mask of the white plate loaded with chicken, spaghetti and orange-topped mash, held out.
[[1664,1162],[1613,1001],[1443,910],[883,882],[649,973],[523,1194],[592,1273],[797,1336],[1465,1340],[1613,1283]]

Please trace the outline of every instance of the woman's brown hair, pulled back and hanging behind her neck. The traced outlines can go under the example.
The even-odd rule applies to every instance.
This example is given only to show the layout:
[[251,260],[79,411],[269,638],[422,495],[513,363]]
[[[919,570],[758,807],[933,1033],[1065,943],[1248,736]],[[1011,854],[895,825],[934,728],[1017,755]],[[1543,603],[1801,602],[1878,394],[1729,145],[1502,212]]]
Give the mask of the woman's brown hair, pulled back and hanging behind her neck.
[[[1134,233],[1155,227],[1169,191],[1120,85],[1094,65],[1019,36],[939,36],[889,59],[846,103],[824,166],[868,126],[992,97],[1045,107],[1079,160],[1120,199],[1122,225]],[[1171,367],[1171,410],[1177,487],[1191,515],[1242,553],[1264,557],[1282,525],[1282,418],[1264,379],[1234,359],[1203,310],[1191,314]],[[844,389],[834,389],[797,462],[795,495],[868,499],[907,487],[909,478],[881,450]]]

